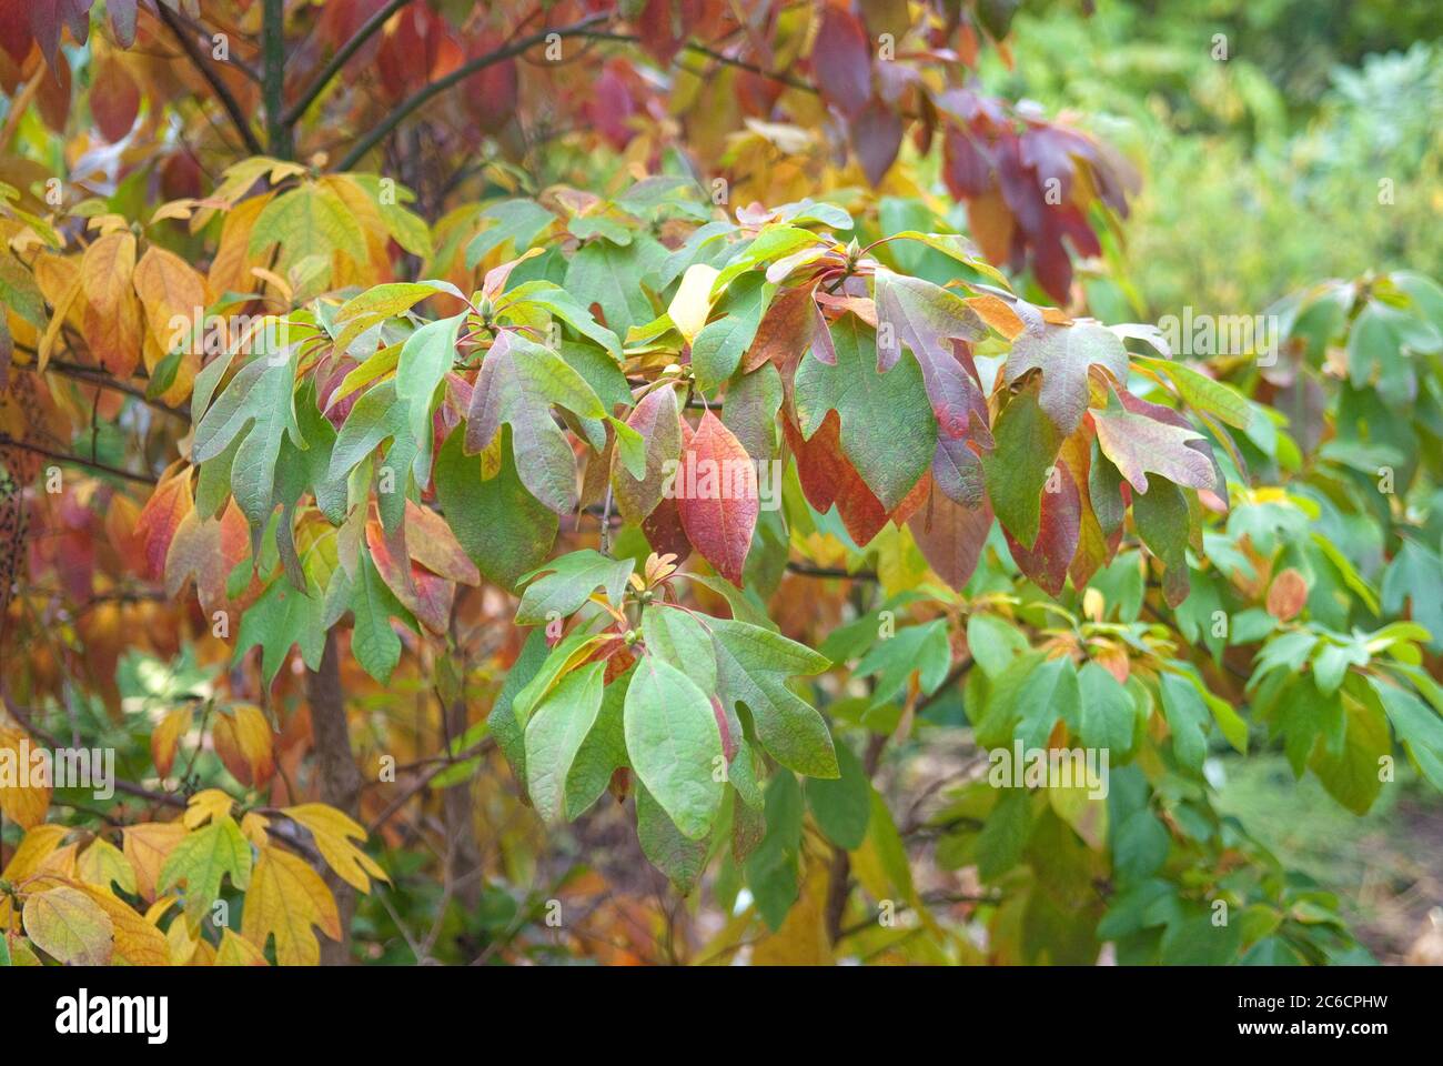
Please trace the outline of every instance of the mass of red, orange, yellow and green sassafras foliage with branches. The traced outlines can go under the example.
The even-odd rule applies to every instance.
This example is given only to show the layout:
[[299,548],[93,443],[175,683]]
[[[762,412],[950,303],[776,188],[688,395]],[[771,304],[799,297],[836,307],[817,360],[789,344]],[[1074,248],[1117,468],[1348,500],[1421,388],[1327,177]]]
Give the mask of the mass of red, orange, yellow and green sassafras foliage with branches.
[[1434,282],[1100,321],[1012,4],[91,7],[0,14],[0,770],[117,787],[0,776],[0,963],[1359,950],[1206,764],[1443,787]]

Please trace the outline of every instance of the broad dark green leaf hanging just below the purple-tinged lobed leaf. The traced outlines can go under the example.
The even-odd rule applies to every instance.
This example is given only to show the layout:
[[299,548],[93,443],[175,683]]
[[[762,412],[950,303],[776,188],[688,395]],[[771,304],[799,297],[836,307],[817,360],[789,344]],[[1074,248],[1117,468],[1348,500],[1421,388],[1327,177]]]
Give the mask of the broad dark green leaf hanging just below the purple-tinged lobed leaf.
[[557,517],[521,484],[509,430],[501,441],[501,469],[489,480],[481,477],[481,458],[466,455],[463,436],[453,432],[436,455],[436,498],[476,568],[509,589],[550,553]]

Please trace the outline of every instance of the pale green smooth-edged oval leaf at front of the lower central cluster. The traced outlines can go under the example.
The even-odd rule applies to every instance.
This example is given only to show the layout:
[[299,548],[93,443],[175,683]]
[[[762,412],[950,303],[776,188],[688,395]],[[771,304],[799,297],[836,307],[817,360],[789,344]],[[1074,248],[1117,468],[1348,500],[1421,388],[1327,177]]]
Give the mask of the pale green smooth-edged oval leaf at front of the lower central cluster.
[[722,732],[711,702],[681,670],[644,656],[626,689],[626,754],[684,836],[700,841],[722,806]]

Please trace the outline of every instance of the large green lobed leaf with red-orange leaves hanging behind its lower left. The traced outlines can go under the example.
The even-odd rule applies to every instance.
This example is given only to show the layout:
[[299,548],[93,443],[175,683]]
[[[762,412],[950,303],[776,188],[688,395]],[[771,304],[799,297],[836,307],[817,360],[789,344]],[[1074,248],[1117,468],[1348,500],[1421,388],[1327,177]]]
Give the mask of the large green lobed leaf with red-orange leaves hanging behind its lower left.
[[841,417],[841,451],[883,508],[892,511],[932,465],[937,451],[937,417],[922,368],[915,358],[903,358],[879,374],[873,332],[856,315],[834,322],[831,339],[835,364],[814,357],[802,360],[797,370],[802,436],[811,439],[827,412],[835,410]]

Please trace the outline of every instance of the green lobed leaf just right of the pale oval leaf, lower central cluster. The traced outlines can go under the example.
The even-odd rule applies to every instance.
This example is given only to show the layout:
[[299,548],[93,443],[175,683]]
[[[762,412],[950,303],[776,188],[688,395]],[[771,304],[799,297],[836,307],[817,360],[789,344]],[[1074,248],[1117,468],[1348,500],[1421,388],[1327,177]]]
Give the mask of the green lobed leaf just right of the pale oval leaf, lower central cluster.
[[779,633],[736,620],[713,620],[711,636],[723,703],[750,712],[756,738],[782,766],[808,777],[835,777],[827,722],[785,685],[786,677],[821,673],[831,663]]

